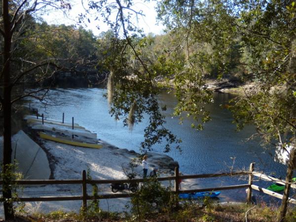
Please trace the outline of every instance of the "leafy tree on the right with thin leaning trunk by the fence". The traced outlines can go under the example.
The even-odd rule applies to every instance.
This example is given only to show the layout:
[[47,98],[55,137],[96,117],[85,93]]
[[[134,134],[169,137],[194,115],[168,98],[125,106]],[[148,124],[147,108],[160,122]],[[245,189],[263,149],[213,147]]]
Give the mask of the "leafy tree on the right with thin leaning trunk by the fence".
[[[253,123],[265,144],[274,143],[283,149],[296,146],[295,4],[293,0],[169,0],[158,5],[159,16],[171,29],[184,30],[187,42],[213,46],[211,54],[217,59],[219,74],[233,68],[225,61],[231,48],[236,46],[241,51],[236,53],[239,61],[234,65],[243,72],[243,80],[256,85],[244,90],[229,108],[238,129]],[[196,65],[204,66],[194,52],[188,50],[188,55]],[[188,63],[193,64],[190,60]],[[279,221],[284,220],[287,210],[293,155],[291,158]]]

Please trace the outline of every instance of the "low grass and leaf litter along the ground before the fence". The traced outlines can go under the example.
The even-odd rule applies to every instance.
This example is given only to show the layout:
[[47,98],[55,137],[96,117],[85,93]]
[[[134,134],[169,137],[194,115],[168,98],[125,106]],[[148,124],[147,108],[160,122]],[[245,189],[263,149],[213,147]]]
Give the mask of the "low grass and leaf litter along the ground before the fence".
[[[148,214],[142,222],[276,222],[279,210],[276,206],[249,204],[217,204],[209,202],[199,205],[195,202],[182,202],[178,210],[163,210],[161,214]],[[296,221],[296,208],[289,208],[287,222]],[[49,214],[31,212],[17,217],[23,222],[129,222],[137,221],[133,215],[99,211],[97,213],[75,213],[54,211]]]

